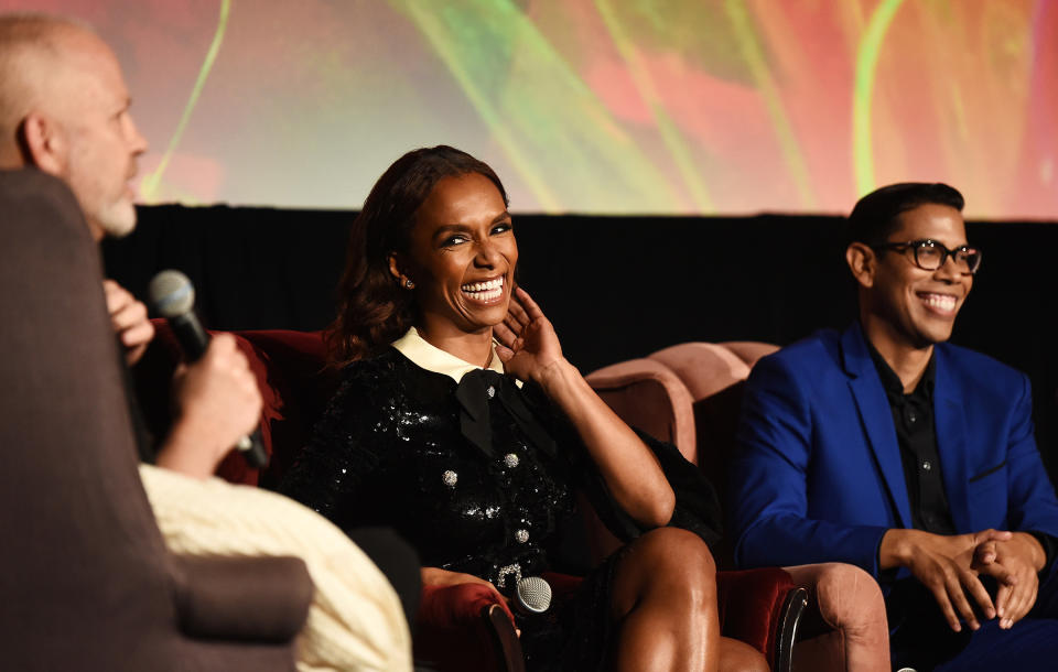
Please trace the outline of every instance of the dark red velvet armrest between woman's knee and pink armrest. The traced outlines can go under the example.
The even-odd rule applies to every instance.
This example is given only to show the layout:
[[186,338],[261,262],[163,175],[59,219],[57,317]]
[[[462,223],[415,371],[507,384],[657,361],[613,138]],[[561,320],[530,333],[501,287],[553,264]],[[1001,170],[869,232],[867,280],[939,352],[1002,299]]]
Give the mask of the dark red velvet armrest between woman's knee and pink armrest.
[[717,572],[716,601],[724,637],[765,654],[774,672],[788,672],[808,592],[778,567]]

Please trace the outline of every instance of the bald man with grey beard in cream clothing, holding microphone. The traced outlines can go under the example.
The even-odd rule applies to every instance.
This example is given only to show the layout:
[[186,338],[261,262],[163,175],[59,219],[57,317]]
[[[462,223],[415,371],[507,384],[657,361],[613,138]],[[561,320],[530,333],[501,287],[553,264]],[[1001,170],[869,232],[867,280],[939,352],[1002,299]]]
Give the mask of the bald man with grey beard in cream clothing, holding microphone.
[[[130,105],[114,52],[91,30],[54,17],[0,17],[0,170],[36,167],[62,178],[97,241],[136,227],[130,181],[147,141]],[[104,292],[134,364],[154,334],[147,310],[112,281]],[[174,399],[173,426],[156,454],[166,468],[140,469],[170,548],[301,556],[316,594],[299,669],[410,670],[400,601],[341,530],[284,497],[210,477],[260,418],[260,392],[233,337],[218,335],[202,359],[177,371]]]

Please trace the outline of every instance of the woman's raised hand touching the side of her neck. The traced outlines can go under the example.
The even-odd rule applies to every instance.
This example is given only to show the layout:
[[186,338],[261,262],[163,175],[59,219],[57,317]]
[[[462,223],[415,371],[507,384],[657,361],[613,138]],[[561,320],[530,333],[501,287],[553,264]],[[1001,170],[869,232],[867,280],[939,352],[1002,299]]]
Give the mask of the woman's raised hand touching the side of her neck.
[[519,380],[537,380],[563,361],[562,346],[551,322],[521,288],[515,288],[503,324],[493,327],[496,353],[507,372]]

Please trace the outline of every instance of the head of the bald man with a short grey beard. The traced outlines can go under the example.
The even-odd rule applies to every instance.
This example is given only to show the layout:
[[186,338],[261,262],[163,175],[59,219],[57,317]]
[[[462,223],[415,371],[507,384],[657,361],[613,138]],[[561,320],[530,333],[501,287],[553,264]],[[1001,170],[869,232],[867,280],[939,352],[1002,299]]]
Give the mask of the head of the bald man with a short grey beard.
[[97,240],[131,231],[129,181],[147,141],[114,53],[80,25],[39,17],[3,19],[0,44],[0,166],[65,180]]

